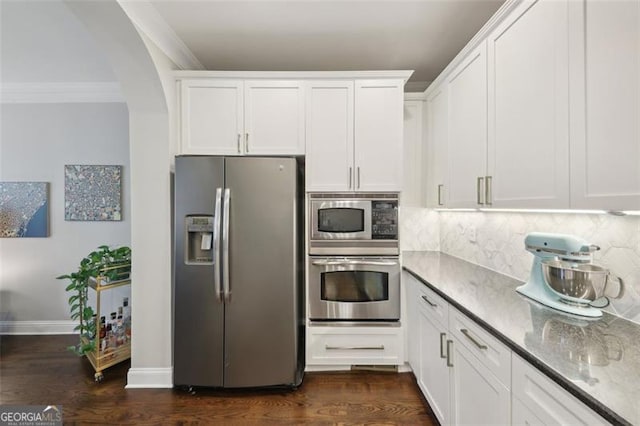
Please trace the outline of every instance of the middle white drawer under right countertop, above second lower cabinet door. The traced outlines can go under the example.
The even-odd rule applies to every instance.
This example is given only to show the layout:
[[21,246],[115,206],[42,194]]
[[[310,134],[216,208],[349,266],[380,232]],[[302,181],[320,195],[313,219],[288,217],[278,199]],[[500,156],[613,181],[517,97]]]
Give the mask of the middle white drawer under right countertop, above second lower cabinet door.
[[507,388],[511,380],[511,350],[454,308],[449,309],[449,332]]

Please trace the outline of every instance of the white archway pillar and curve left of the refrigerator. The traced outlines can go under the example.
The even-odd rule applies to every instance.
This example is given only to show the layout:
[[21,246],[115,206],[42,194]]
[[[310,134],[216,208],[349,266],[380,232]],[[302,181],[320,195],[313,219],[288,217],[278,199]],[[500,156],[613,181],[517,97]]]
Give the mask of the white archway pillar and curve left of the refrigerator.
[[104,48],[129,108],[133,338],[127,387],[171,387],[172,150],[161,78],[171,63],[148,48],[117,1],[65,4]]

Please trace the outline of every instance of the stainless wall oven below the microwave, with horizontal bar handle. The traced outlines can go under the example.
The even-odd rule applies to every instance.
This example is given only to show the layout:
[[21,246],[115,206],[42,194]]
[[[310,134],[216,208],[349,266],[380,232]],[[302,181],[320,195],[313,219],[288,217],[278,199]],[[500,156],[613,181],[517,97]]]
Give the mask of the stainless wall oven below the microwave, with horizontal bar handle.
[[398,321],[398,257],[309,256],[309,319]]

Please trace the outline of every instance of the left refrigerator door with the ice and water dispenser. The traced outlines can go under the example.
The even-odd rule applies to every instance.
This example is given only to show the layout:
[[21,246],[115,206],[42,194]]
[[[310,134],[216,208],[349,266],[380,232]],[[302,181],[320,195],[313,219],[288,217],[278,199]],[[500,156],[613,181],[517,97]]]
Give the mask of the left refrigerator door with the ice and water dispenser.
[[[223,158],[176,157],[175,385],[223,385],[224,303],[214,277],[219,266],[215,241],[220,234],[211,226],[221,217],[215,214],[216,193],[222,194],[223,188]],[[221,208],[221,199],[217,205]],[[212,233],[202,225],[207,220]]]

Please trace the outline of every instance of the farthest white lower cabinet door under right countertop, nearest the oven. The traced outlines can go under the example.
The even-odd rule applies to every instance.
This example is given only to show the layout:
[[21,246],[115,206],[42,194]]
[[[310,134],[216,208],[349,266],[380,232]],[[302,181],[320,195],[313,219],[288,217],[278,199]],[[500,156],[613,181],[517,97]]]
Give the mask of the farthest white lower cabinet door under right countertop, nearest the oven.
[[451,423],[449,400],[449,374],[446,356],[446,330],[439,326],[423,310],[419,310],[420,321],[420,367],[417,376],[418,386],[422,390],[429,406],[440,424]]

